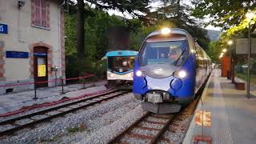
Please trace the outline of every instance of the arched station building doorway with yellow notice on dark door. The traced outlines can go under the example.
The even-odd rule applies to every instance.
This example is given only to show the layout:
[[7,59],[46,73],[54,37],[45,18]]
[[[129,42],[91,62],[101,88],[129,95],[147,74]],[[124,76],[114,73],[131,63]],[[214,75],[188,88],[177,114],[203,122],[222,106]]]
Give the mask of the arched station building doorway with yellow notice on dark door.
[[36,87],[48,86],[47,48],[34,47],[34,82]]

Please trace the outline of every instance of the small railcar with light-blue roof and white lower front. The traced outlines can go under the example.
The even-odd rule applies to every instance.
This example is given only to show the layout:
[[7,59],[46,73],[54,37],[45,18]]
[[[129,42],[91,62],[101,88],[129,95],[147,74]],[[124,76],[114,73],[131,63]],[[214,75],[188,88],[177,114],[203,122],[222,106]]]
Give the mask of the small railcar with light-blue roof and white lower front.
[[109,82],[132,81],[134,76],[134,61],[138,52],[133,50],[115,50],[106,53]]

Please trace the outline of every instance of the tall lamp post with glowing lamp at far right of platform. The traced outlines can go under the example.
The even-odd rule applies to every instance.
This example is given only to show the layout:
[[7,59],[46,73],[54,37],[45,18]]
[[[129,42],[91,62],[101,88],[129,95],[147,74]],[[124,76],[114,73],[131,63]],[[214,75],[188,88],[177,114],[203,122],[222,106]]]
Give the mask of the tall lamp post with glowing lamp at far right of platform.
[[250,22],[251,19],[254,18],[254,12],[248,11],[246,13],[246,18],[249,21],[248,26],[248,63],[247,63],[247,97],[250,98]]

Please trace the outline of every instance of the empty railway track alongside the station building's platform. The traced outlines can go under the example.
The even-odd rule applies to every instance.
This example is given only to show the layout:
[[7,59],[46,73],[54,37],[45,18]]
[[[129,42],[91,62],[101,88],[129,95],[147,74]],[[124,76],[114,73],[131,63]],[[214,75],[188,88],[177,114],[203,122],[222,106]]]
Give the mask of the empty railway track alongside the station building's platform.
[[89,98],[82,98],[74,102],[68,102],[61,106],[54,106],[46,110],[40,110],[31,114],[24,114],[17,118],[10,118],[0,122],[0,137],[14,134],[18,130],[33,127],[42,122],[49,122],[53,118],[62,117],[65,114],[76,110],[84,109],[88,106],[116,98],[129,93],[130,90],[110,90],[102,94],[95,94]]

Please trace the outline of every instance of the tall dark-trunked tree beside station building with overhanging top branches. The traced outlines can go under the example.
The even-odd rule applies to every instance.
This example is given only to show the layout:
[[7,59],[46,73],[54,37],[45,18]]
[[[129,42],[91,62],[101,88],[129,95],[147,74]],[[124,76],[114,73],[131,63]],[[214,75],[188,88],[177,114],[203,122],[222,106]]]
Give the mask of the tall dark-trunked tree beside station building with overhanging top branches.
[[85,22],[85,2],[90,2],[94,4],[97,9],[101,10],[109,10],[109,9],[117,9],[122,13],[128,12],[133,14],[134,17],[141,18],[142,13],[148,12],[150,7],[150,0],[78,0],[77,1],[77,56],[78,58],[82,58],[86,54],[85,48],[85,30],[84,30],[84,22]]

